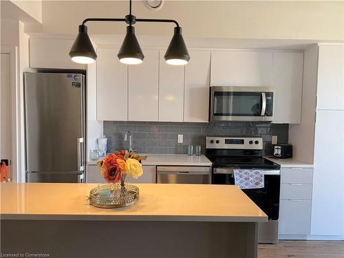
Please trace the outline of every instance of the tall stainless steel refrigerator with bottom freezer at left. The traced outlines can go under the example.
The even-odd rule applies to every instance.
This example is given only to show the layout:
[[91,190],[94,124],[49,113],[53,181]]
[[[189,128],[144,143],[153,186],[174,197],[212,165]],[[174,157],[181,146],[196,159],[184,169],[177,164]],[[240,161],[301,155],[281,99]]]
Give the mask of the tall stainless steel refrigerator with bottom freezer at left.
[[83,182],[85,76],[24,73],[27,182]]

